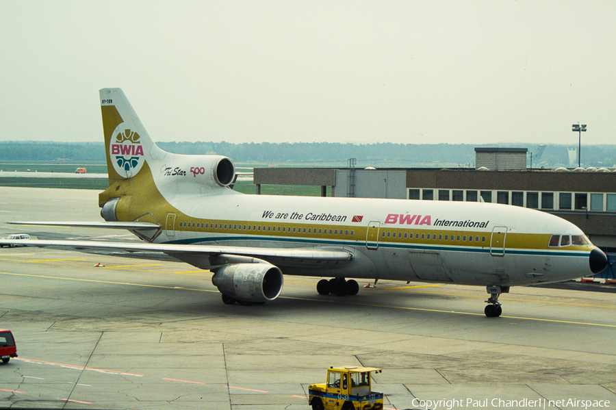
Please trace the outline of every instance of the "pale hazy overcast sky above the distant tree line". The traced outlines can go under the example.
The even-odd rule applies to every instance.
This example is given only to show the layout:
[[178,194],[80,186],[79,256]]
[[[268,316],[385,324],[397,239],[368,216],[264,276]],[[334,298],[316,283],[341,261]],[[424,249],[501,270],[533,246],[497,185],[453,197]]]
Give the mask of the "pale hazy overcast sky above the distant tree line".
[[0,140],[557,143],[616,136],[616,1],[0,1]]

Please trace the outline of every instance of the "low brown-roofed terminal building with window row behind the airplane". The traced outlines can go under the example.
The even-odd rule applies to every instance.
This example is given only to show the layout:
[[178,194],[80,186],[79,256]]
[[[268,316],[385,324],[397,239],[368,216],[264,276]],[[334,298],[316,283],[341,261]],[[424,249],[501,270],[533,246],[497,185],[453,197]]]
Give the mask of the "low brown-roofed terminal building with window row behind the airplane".
[[[484,201],[549,212],[573,222],[593,244],[616,253],[616,172],[529,169],[526,149],[476,148],[475,168],[255,168],[261,185],[320,185],[325,196],[418,201]],[[611,266],[608,266],[611,272]],[[612,274],[613,276],[613,274]]]

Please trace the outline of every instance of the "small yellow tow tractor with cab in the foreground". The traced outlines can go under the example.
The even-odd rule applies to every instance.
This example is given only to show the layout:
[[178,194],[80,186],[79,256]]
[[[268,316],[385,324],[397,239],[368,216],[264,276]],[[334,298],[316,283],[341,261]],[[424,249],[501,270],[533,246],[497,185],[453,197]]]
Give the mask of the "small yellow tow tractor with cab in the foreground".
[[355,366],[329,368],[326,383],[308,387],[308,404],[313,410],[381,410],[383,393],[372,392],[372,372],[383,370]]

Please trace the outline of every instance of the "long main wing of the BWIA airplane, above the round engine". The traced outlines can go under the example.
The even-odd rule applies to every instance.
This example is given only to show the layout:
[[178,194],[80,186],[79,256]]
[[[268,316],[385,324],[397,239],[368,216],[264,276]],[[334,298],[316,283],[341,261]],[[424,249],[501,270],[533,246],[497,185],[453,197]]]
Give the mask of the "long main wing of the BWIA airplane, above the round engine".
[[101,242],[90,240],[7,240],[0,246],[36,246],[39,248],[70,248],[77,251],[125,251],[129,253],[164,253],[201,269],[226,264],[262,263],[268,261],[280,267],[335,266],[353,259],[344,248],[251,248],[216,245],[151,244],[130,242]]

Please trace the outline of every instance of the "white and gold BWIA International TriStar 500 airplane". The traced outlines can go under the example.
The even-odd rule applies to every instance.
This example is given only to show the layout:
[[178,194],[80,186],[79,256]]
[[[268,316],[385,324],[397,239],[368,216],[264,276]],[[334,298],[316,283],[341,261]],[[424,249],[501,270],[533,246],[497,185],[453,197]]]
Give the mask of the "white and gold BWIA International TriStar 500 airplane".
[[[511,286],[577,279],[608,259],[572,223],[483,202],[241,194],[222,155],[159,149],[119,88],[100,90],[109,188],[101,222],[11,222],[127,229],[139,243],[21,240],[20,245],[166,254],[210,270],[226,304],[276,299],[285,274],[324,277],[321,295],[355,279],[485,286],[485,315]],[[12,244],[0,240],[0,244]],[[347,279],[355,278],[355,279]]]

